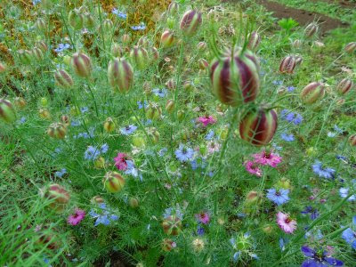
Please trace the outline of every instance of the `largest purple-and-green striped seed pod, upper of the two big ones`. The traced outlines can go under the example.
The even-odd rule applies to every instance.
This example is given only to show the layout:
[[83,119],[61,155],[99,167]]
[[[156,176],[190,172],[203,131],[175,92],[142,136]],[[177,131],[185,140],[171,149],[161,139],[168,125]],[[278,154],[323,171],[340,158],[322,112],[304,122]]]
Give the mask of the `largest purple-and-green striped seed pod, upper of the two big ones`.
[[219,101],[231,106],[255,101],[260,92],[259,65],[251,54],[237,53],[210,66],[213,93]]

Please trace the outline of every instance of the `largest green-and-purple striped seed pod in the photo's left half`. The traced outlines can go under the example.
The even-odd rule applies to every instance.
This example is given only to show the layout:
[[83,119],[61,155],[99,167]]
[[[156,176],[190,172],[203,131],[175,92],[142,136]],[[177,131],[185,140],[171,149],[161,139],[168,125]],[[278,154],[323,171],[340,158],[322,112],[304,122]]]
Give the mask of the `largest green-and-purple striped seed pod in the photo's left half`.
[[125,93],[134,84],[134,69],[124,58],[116,58],[109,61],[108,79],[114,91]]

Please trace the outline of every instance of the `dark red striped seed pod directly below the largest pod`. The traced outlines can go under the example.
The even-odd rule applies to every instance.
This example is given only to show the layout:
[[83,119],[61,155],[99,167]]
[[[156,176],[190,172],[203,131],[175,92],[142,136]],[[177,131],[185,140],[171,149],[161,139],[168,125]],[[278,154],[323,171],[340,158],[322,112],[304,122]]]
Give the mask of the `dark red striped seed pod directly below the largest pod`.
[[259,109],[248,112],[239,122],[241,139],[255,145],[263,146],[271,142],[278,125],[274,109]]

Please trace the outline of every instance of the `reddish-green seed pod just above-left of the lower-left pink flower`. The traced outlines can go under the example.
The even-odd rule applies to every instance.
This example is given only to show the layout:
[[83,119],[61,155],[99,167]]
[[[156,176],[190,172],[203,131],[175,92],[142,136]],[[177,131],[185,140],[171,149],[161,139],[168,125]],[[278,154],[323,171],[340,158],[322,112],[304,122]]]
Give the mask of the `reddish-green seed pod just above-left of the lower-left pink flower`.
[[53,183],[45,190],[44,198],[52,200],[49,206],[55,211],[61,212],[69,203],[70,195],[61,185]]

